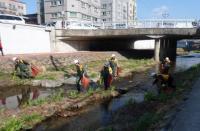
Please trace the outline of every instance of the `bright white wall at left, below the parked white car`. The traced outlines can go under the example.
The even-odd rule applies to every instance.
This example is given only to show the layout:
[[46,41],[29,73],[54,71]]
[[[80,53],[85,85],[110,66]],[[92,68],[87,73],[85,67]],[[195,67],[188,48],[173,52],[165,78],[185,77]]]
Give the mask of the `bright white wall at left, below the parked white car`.
[[5,54],[51,52],[50,34],[42,26],[0,23]]

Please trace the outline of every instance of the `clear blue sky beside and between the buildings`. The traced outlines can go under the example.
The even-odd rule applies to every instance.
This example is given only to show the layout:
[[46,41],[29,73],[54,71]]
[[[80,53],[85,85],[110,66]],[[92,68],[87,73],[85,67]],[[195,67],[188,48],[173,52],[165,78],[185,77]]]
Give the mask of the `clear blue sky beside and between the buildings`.
[[[36,0],[22,0],[36,13]],[[200,0],[137,0],[137,18],[200,19]]]

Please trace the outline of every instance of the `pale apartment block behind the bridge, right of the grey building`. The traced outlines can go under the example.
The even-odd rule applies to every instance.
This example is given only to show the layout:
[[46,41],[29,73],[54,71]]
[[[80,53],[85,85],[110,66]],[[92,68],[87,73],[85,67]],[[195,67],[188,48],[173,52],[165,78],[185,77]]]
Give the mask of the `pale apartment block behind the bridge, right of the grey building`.
[[127,23],[135,20],[136,0],[101,0],[104,23]]

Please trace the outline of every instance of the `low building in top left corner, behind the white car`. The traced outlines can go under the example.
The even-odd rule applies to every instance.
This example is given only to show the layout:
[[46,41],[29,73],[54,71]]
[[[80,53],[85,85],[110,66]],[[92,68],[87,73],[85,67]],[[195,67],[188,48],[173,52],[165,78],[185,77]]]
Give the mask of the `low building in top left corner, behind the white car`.
[[0,0],[0,13],[12,15],[25,15],[26,4],[19,0]]

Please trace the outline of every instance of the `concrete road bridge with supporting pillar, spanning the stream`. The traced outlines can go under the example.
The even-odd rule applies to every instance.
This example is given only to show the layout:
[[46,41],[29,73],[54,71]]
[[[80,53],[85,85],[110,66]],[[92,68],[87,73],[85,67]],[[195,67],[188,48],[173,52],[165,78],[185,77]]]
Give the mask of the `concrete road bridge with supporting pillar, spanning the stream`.
[[[177,41],[200,38],[198,28],[134,28],[134,29],[98,29],[53,31],[57,47],[76,48],[78,50],[104,48],[131,48],[134,41],[155,39],[155,59],[159,61],[168,56],[176,56]],[[66,47],[65,47],[65,46]]]

